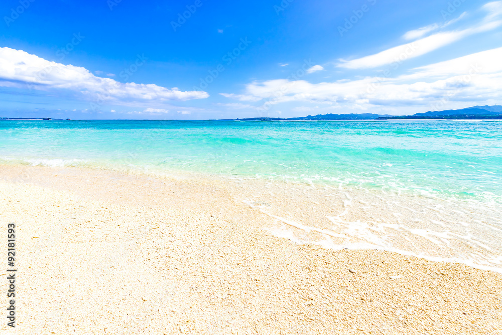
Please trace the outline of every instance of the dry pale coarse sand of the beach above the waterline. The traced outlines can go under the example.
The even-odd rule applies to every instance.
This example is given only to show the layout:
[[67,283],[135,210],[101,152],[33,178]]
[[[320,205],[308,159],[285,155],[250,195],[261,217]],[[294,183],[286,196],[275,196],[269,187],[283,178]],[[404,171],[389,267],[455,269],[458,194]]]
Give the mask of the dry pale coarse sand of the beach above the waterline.
[[502,334],[501,274],[294,244],[234,192],[0,165],[0,222],[18,227],[17,326],[3,332]]

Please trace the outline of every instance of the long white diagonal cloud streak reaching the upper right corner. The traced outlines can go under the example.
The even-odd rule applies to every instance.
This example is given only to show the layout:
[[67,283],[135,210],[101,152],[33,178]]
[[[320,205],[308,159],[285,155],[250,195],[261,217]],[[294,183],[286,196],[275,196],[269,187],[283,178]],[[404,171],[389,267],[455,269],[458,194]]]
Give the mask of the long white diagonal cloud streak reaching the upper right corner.
[[[419,39],[413,43],[403,44],[378,54],[369,55],[353,60],[340,59],[338,67],[346,69],[367,69],[392,64],[398,60],[406,60],[422,56],[431,51],[459,41],[467,36],[493,30],[502,25],[502,21],[495,20],[502,15],[502,1],[488,3],[481,7],[488,14],[476,25],[459,31],[439,32]],[[421,37],[434,30],[435,25],[424,27],[405,34],[406,37]]]

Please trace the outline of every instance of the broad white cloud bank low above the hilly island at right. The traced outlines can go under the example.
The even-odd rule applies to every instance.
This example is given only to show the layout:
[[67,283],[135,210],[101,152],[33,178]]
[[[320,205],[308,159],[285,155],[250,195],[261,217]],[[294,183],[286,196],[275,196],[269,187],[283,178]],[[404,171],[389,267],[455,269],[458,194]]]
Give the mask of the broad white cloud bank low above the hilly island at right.
[[[243,95],[262,100],[262,107],[286,102],[310,102],[347,109],[430,106],[445,99],[464,104],[467,101],[500,100],[500,59],[502,48],[497,48],[419,67],[413,69],[412,74],[397,78],[366,77],[318,84],[286,79],[254,81],[246,85]],[[307,111],[300,110],[304,107],[296,108],[295,111]]]

